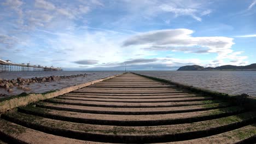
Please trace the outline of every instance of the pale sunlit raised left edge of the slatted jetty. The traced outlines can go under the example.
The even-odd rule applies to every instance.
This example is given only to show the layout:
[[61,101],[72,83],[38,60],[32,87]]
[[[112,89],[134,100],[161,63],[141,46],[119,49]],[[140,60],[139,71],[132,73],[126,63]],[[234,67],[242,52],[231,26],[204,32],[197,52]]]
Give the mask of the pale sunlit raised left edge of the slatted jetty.
[[[122,75],[122,74],[119,74],[119,75]],[[66,87],[66,88],[62,88],[62,89],[50,91],[50,92],[45,92],[45,93],[21,93],[19,95],[10,96],[7,98],[1,98],[0,99],[0,114],[5,111],[8,111],[8,110],[15,109],[16,107],[19,107],[19,106],[25,106],[25,105],[28,105],[28,104],[31,104],[31,103],[34,103],[34,102],[37,102],[40,100],[54,98],[54,97],[57,97],[59,95],[65,94],[65,93],[75,91],[79,88],[94,85],[94,83],[112,79],[113,77],[119,76],[119,75],[104,77],[103,79],[94,80],[94,81],[82,83],[82,84],[79,84],[76,86]]]

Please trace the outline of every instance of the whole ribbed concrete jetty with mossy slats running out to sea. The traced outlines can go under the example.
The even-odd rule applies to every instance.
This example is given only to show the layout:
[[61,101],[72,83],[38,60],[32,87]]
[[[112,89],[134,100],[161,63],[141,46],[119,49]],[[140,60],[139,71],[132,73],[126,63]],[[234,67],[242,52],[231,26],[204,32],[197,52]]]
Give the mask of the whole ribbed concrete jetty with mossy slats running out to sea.
[[[26,106],[0,101],[1,106],[11,103],[19,106],[2,113],[0,140],[2,143],[256,142],[254,98],[214,93],[133,73],[91,84],[39,95],[41,101],[28,101],[32,104]],[[24,97],[26,101],[28,98]]]

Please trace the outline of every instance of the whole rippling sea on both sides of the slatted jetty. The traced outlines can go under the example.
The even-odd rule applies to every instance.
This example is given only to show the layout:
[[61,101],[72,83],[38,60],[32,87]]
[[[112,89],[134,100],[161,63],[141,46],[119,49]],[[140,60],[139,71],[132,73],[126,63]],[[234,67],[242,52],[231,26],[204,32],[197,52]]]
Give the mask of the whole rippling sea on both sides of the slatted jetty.
[[[171,80],[173,82],[184,83],[186,85],[206,88],[212,91],[228,93],[231,95],[247,93],[256,96],[256,71],[132,71],[142,75],[159,77],[161,79]],[[26,71],[26,72],[7,72],[0,73],[1,79],[17,79],[78,75],[88,74],[83,77],[74,77],[70,79],[61,79],[54,82],[32,83],[28,87],[32,90],[29,93],[44,93],[54,91],[69,86],[78,85],[104,77],[122,74],[124,71]],[[24,92],[21,89],[14,88],[13,93],[8,93],[4,88],[0,88],[0,93],[7,95],[17,95]]]

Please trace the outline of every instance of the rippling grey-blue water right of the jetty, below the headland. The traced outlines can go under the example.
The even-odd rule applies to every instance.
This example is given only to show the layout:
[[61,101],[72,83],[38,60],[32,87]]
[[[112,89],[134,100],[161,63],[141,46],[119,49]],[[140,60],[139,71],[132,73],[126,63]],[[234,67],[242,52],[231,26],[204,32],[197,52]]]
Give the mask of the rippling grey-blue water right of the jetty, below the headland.
[[134,71],[229,94],[256,96],[256,71]]

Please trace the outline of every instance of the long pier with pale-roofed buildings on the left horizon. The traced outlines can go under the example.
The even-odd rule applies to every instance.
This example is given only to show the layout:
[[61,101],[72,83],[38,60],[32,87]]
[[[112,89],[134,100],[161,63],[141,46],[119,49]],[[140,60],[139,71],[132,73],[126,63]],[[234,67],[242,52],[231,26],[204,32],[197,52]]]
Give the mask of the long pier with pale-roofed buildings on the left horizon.
[[16,64],[11,63],[10,61],[3,61],[0,59],[0,72],[9,72],[9,71],[61,71],[61,68],[55,67],[43,67],[41,65],[30,65],[27,64]]

